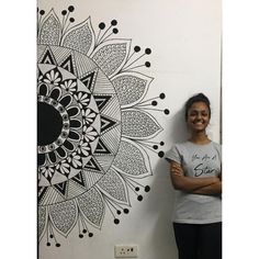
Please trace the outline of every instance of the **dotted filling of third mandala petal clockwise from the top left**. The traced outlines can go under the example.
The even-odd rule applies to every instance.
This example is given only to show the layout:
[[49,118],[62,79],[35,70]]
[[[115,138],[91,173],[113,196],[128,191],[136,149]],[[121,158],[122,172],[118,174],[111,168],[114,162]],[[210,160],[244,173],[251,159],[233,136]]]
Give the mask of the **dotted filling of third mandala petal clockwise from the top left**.
[[106,76],[111,76],[121,66],[126,54],[126,43],[109,44],[94,54],[93,60]]

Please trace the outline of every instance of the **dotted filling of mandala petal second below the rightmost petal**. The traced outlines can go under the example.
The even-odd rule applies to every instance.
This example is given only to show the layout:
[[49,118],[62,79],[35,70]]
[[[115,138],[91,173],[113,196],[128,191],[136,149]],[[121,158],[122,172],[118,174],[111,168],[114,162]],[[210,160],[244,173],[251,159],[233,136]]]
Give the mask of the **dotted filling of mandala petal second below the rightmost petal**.
[[98,182],[98,185],[114,199],[126,202],[126,192],[124,190],[123,180],[114,170],[109,170]]

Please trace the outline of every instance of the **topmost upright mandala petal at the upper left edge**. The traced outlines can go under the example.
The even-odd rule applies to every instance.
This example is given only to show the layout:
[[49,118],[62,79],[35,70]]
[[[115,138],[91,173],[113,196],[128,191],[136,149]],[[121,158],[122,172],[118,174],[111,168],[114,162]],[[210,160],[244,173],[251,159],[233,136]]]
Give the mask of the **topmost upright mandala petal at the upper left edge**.
[[48,45],[58,45],[61,37],[61,25],[60,22],[52,9],[50,12],[43,20],[38,43]]

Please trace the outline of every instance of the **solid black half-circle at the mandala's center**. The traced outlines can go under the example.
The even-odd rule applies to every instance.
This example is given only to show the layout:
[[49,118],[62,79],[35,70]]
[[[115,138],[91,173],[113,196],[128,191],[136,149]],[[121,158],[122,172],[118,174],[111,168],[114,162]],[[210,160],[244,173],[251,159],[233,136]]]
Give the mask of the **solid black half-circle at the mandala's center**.
[[60,135],[63,119],[60,113],[45,102],[37,102],[37,145],[52,144]]

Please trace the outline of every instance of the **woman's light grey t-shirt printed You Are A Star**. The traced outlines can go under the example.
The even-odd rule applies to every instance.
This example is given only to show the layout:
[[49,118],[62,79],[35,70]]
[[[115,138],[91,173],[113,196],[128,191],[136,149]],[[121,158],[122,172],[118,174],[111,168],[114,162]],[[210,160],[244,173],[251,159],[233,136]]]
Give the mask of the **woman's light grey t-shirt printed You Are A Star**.
[[[176,144],[167,155],[168,160],[180,164],[184,174],[194,178],[221,173],[221,145],[211,142],[198,145],[191,142]],[[209,224],[222,221],[221,195],[190,194],[176,190],[172,221],[176,223]]]

